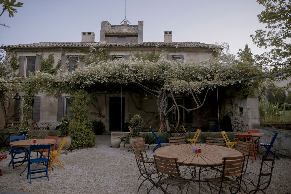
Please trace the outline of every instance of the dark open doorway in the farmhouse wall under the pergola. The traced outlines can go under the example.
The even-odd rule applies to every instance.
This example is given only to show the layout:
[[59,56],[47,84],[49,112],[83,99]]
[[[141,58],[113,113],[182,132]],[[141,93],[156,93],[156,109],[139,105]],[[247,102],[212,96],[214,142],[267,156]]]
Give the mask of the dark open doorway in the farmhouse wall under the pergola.
[[121,131],[124,124],[124,103],[125,97],[109,97],[110,131]]

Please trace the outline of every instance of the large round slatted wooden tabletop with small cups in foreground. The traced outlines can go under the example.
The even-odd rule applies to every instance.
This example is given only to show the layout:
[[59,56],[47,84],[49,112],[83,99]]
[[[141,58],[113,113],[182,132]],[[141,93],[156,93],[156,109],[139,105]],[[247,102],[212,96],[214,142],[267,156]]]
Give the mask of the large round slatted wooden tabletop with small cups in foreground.
[[[202,152],[194,153],[192,148],[201,148]],[[223,157],[241,156],[242,153],[228,147],[196,143],[161,147],[155,155],[177,158],[179,164],[188,166],[220,166]]]

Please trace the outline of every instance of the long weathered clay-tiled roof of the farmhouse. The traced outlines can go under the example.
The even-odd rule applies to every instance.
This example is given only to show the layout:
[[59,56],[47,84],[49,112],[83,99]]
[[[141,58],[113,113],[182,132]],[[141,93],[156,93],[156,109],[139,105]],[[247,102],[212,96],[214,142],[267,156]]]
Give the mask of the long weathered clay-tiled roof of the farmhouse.
[[91,45],[94,46],[173,46],[173,47],[201,47],[201,48],[209,48],[210,44],[205,44],[201,42],[143,42],[142,44],[138,43],[102,43],[99,42],[39,42],[32,44],[17,44],[17,45],[7,45],[3,46],[3,48],[34,48],[34,47],[89,47]]

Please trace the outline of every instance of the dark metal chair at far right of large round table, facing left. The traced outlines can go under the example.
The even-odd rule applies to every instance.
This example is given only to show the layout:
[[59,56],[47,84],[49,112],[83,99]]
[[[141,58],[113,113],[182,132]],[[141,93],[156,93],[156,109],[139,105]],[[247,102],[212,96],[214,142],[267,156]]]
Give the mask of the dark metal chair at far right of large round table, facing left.
[[[265,193],[263,190],[267,189],[271,183],[275,156],[276,156],[276,152],[274,153],[272,159],[266,159],[264,157],[262,158],[259,175],[252,172],[242,175],[242,181],[244,183],[248,183],[256,187],[256,189],[253,189],[249,192],[247,192],[246,190],[242,188],[243,191],[245,191],[246,193],[253,192],[253,194],[256,193],[257,191],[262,191],[263,193]],[[266,178],[266,177],[269,177],[269,178]],[[267,185],[264,188],[260,188],[262,185],[265,185],[265,184]]]

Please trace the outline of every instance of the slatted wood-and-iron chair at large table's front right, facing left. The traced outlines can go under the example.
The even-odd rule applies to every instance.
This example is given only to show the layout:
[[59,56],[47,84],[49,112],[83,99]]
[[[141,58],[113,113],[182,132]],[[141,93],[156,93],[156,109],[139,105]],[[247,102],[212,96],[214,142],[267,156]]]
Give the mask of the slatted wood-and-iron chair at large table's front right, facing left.
[[[205,179],[212,194],[213,192],[211,188],[219,191],[219,193],[222,192],[223,188],[229,188],[231,193],[232,188],[236,188],[237,190],[234,193],[239,192],[245,158],[246,155],[223,158],[220,176]],[[238,178],[233,179],[232,176],[238,176]]]

